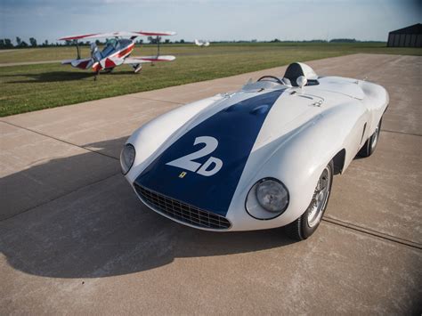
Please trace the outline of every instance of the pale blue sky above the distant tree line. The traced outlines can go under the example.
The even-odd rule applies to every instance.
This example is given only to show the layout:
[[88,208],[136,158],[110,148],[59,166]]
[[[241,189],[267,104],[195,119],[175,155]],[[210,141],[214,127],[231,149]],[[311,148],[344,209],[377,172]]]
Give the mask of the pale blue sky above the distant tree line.
[[0,0],[0,38],[172,30],[172,40],[386,41],[422,21],[422,0]]

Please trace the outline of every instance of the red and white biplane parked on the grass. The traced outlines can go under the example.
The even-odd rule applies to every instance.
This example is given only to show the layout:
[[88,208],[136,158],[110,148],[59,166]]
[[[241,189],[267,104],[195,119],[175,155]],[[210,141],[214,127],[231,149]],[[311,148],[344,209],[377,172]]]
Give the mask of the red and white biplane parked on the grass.
[[[94,80],[100,74],[100,71],[109,73],[115,67],[120,65],[130,65],[134,69],[134,73],[138,73],[142,69],[142,63],[153,63],[156,61],[174,61],[175,57],[172,55],[159,54],[159,39],[160,36],[173,36],[175,32],[150,32],[150,31],[135,31],[135,32],[112,32],[112,33],[95,33],[78,36],[65,36],[59,38],[62,41],[75,41],[77,43],[77,58],[74,60],[61,61],[62,65],[71,65],[78,69],[93,69],[95,72]],[[138,36],[157,36],[157,55],[154,56],[137,56],[130,57],[134,50],[134,39]],[[93,42],[91,43],[91,57],[81,58],[78,40],[81,39],[98,39],[107,38],[104,48],[100,48]]]

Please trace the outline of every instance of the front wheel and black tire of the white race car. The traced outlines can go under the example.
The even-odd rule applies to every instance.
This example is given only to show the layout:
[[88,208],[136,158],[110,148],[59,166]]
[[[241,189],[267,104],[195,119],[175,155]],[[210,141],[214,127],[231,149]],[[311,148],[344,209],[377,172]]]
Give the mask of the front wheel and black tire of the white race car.
[[292,239],[308,239],[317,230],[329,203],[333,174],[334,163],[331,160],[329,165],[322,171],[309,207],[306,208],[304,214],[297,218],[295,222],[287,226],[288,235]]

